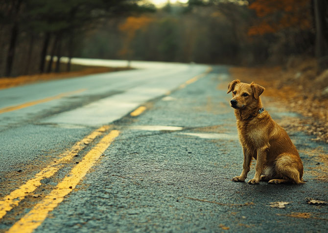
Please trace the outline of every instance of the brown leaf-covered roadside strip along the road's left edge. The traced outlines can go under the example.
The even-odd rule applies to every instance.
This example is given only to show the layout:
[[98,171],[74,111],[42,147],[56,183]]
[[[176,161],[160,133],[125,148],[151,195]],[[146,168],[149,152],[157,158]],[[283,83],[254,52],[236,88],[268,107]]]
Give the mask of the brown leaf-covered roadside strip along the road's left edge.
[[44,74],[34,74],[34,75],[24,75],[18,77],[0,77],[0,89],[31,84],[36,82],[45,82],[57,79],[74,78],[83,75],[105,73],[105,72],[115,72],[120,70],[128,70],[128,67],[102,67],[102,66],[85,66],[71,64],[70,72],[59,72],[59,73],[44,73]]

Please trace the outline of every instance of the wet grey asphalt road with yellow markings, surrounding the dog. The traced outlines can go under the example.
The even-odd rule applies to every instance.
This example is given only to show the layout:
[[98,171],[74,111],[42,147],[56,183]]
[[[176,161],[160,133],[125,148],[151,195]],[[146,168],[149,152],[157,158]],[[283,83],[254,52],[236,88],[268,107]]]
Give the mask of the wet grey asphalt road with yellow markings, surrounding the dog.
[[[328,201],[327,144],[287,127],[307,182],[234,183],[227,67],[139,65],[0,90],[0,232],[328,231],[305,200]],[[282,126],[302,117],[262,100]]]

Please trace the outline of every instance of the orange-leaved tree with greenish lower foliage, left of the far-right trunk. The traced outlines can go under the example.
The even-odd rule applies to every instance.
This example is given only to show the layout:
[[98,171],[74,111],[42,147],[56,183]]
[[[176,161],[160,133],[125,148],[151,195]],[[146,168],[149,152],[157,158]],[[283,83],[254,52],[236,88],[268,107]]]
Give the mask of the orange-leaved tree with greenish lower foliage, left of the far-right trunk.
[[253,40],[267,43],[267,58],[281,64],[290,55],[313,55],[311,0],[252,0],[254,20],[248,29]]

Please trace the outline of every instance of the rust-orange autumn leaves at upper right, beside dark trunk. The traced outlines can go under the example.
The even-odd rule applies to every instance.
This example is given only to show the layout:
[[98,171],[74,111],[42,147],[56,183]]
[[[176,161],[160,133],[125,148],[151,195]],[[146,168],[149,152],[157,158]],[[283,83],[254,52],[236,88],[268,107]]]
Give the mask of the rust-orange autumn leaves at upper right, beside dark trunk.
[[289,27],[304,30],[311,25],[310,0],[256,0],[249,8],[255,10],[258,17],[248,30],[249,36],[275,33]]

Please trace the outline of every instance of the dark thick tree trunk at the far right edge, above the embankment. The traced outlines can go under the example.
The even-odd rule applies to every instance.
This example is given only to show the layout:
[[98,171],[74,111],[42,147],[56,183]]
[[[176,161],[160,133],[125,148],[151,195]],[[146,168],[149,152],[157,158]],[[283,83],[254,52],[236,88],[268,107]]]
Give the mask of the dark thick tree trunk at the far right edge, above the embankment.
[[315,54],[318,60],[318,71],[328,68],[328,2],[314,0],[315,20]]

